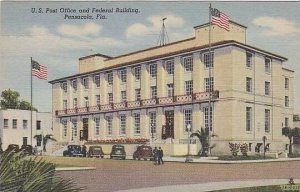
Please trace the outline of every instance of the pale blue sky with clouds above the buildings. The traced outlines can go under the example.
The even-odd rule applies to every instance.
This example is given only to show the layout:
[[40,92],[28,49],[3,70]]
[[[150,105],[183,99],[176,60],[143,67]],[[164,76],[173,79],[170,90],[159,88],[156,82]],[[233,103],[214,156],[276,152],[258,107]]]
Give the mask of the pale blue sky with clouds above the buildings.
[[[295,70],[295,113],[300,113],[300,2],[213,2],[248,27],[247,44],[287,57]],[[208,22],[208,2],[1,2],[0,91],[11,88],[30,100],[30,57],[49,68],[48,80],[78,73],[78,58],[94,53],[117,56],[157,44],[167,17],[170,41],[192,37]],[[58,13],[31,13],[31,8]],[[60,8],[133,8],[139,13],[108,13],[105,20],[66,20]],[[85,15],[85,14],[81,14]],[[33,80],[33,104],[51,111],[47,81]]]

